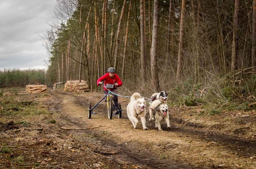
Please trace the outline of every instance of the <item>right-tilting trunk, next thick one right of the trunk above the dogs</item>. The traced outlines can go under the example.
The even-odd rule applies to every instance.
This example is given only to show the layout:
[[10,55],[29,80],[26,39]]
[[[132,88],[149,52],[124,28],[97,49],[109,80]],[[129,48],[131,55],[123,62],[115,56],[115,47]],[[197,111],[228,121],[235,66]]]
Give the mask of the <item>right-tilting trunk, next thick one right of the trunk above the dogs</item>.
[[180,39],[178,45],[178,63],[177,63],[177,74],[176,80],[180,79],[180,69],[181,69],[181,58],[183,56],[183,31],[184,31],[184,12],[186,7],[186,0],[182,0],[181,14],[180,14]]

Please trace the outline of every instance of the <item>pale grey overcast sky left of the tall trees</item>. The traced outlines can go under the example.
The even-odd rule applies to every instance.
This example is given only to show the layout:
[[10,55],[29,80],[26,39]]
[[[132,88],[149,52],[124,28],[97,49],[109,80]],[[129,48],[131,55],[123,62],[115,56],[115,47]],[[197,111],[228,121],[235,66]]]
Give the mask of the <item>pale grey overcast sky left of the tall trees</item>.
[[0,0],[0,70],[47,69],[42,36],[55,20],[54,5],[55,0]]

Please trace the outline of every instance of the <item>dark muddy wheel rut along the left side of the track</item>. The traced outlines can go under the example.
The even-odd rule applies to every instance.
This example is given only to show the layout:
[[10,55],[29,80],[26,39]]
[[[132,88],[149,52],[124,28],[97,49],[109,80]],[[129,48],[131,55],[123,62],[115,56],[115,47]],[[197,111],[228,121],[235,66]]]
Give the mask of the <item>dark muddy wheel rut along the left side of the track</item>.
[[[57,95],[56,95],[57,94]],[[53,111],[60,113],[60,115],[63,117],[62,119],[67,121],[69,124],[72,124],[73,126],[76,126],[77,128],[84,128],[84,124],[81,124],[78,120],[74,119],[70,115],[67,116],[63,110],[61,110],[61,107],[63,107],[63,98],[65,99],[67,95],[65,93],[56,91],[55,92],[55,103],[57,103],[59,106],[54,106],[52,108]],[[78,96],[71,96],[71,99],[74,104],[82,107],[86,107],[87,100],[82,100]],[[99,106],[99,109],[103,109],[103,105]],[[87,118],[87,117],[85,117]],[[83,130],[85,134],[92,135],[96,132],[96,130]],[[102,136],[95,136],[98,141],[102,141]],[[128,161],[128,163],[132,163],[133,165],[138,165],[143,168],[166,168],[166,169],[180,169],[180,168],[196,168],[192,167],[190,165],[185,165],[179,162],[172,162],[170,161],[164,161],[157,159],[157,155],[152,150],[141,150],[141,147],[136,145],[135,143],[129,143],[129,145],[123,144],[117,144],[117,142],[107,139],[104,137],[104,144],[107,144],[107,146],[111,146],[111,149],[114,151],[120,151],[120,155],[118,156],[118,159],[124,159],[125,161]],[[134,147],[136,149],[139,149],[139,153],[132,153],[134,151]],[[147,148],[144,148],[147,149]],[[151,156],[149,156],[151,155]],[[106,155],[107,156],[107,155]]]

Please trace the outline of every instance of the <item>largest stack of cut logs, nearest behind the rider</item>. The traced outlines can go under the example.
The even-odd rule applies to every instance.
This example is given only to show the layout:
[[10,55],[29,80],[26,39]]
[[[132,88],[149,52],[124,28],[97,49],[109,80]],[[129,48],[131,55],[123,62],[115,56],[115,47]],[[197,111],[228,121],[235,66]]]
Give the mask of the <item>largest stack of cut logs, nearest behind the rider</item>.
[[85,91],[89,91],[89,87],[87,82],[84,80],[81,80],[81,82],[79,82],[79,80],[67,80],[64,90],[69,92],[83,93]]

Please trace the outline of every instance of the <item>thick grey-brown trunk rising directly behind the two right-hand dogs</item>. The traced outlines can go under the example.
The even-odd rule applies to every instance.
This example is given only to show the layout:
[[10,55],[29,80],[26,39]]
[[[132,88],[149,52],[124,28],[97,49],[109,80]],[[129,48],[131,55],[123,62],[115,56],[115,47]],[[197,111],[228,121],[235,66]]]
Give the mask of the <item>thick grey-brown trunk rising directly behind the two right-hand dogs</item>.
[[158,0],[154,0],[154,13],[153,13],[153,31],[152,31],[152,45],[151,45],[151,76],[152,85],[155,92],[160,91],[159,79],[157,74],[157,31],[158,31],[158,13],[159,5]]

